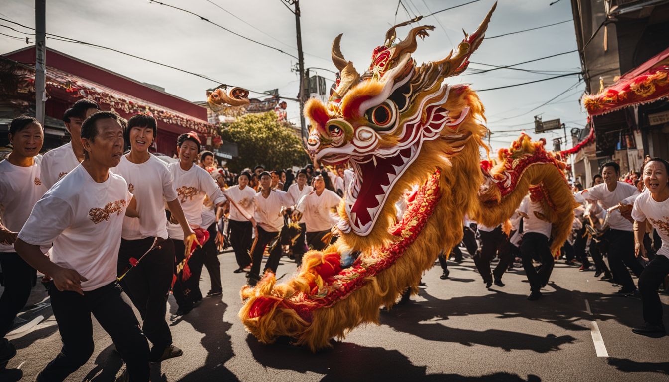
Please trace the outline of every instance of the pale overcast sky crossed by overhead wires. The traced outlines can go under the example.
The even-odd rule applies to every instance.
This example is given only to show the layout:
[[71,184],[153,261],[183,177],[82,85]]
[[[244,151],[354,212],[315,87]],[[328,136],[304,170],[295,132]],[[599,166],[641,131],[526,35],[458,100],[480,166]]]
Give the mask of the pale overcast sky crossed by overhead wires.
[[[486,37],[572,18],[570,1],[559,1],[549,6],[553,1],[500,0]],[[295,17],[282,5],[282,0],[161,2],[203,15],[231,31],[297,56]],[[468,2],[402,0],[412,17],[414,13],[428,15]],[[1,0],[1,3],[1,17],[34,27],[33,1]],[[415,60],[421,63],[444,58],[462,40],[462,29],[474,31],[492,3],[494,0],[482,0],[421,20],[421,25],[434,25],[436,29],[424,41],[419,41],[418,49],[413,54]],[[363,68],[369,66],[373,48],[383,43],[390,25],[409,19],[403,7],[399,7],[395,16],[395,0],[303,0],[300,7],[305,66],[330,70],[336,70],[329,59],[330,45],[339,33],[344,33],[341,42],[343,54],[347,60],[353,60],[359,72],[363,72]],[[11,24],[0,21],[0,25]],[[1,33],[25,38],[25,35],[16,31],[4,27],[0,29]],[[149,3],[148,0],[47,0],[46,29],[47,33],[114,47],[136,56],[205,74],[227,84],[260,91],[278,88],[280,94],[292,98],[298,92],[297,74],[291,71],[296,59],[237,37],[193,15]],[[408,29],[399,29],[397,34],[404,37]],[[204,100],[205,90],[217,85],[209,80],[96,47],[54,39],[47,39],[47,46],[135,80],[163,86],[167,92],[187,100]],[[21,47],[25,47],[25,41],[0,35],[0,52],[7,53]],[[537,31],[486,39],[471,60],[482,64],[510,65],[575,49],[574,25],[569,22]],[[470,68],[490,67],[471,64]],[[472,74],[448,78],[447,81],[451,84],[470,83],[474,89],[480,90],[581,70],[577,52],[516,68],[543,73],[502,69],[473,74],[474,70],[471,70],[466,73]],[[330,72],[316,72],[326,78],[334,78]],[[566,76],[536,84],[480,92],[480,98],[486,106],[488,128],[493,132],[527,128],[533,138],[545,137],[549,147],[552,147],[552,138],[562,136],[563,130],[534,134],[533,116],[543,113],[543,120],[561,118],[567,122],[567,131],[574,127],[582,128],[586,114],[578,100],[585,85],[583,82],[577,84],[578,79],[578,76]],[[556,98],[553,103],[529,112],[569,88],[571,90]],[[298,104],[288,102],[289,120],[299,123],[298,116]],[[506,147],[517,136],[518,132],[498,132],[493,134],[491,143],[494,149],[499,149]]]

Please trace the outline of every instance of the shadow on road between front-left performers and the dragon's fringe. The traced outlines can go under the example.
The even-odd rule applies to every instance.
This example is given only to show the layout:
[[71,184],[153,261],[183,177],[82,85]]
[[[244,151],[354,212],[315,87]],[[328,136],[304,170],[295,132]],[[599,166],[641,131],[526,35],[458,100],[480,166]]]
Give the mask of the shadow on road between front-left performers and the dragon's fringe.
[[[200,342],[207,351],[207,358],[203,367],[184,375],[179,381],[239,381],[224,365],[235,355],[231,337],[227,334],[232,324],[223,321],[225,309],[227,304],[219,298],[205,298],[193,312],[183,316],[185,322],[204,334]],[[151,380],[162,379],[159,379],[159,375],[153,375],[152,370]]]

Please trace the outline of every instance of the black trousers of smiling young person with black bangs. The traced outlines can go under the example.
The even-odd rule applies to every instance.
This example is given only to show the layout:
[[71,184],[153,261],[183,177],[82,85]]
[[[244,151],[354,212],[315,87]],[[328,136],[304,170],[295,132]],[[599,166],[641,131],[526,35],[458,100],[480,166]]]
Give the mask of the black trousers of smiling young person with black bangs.
[[[130,267],[130,258],[139,260],[151,248],[153,240],[153,237],[121,240],[118,276]],[[163,351],[172,345],[172,333],[165,321],[165,312],[174,270],[174,244],[171,240],[160,240],[159,248],[144,256],[120,281],[123,291],[142,316],[142,330],[153,343],[152,359],[163,355]]]

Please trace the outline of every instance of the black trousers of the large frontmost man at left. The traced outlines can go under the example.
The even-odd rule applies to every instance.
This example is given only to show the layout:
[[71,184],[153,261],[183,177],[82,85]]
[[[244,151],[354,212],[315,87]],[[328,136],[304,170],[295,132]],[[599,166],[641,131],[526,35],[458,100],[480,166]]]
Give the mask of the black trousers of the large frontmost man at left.
[[94,349],[91,314],[112,337],[130,380],[149,381],[149,343],[116,282],[84,292],[84,296],[60,292],[51,282],[49,296],[63,347],[39,373],[37,381],[63,381],[88,361]]

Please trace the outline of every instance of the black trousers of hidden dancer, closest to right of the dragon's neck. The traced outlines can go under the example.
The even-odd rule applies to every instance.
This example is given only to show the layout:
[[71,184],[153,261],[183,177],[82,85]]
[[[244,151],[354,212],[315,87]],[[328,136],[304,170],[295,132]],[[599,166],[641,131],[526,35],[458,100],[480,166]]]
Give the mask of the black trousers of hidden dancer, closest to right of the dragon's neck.
[[[502,227],[496,227],[494,230],[480,231],[481,235],[481,250],[474,256],[474,264],[478,272],[481,274],[484,282],[492,282],[492,274],[495,279],[501,280],[502,275],[506,272],[508,264],[511,262],[511,253],[508,249],[508,237],[502,231]],[[490,262],[498,256],[500,261],[490,274]]]

